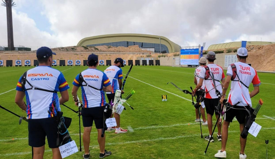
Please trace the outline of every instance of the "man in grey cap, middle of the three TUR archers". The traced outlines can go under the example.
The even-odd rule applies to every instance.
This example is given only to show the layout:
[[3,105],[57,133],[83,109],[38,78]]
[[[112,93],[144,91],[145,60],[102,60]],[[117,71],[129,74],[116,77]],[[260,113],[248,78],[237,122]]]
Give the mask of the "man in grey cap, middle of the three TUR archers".
[[[221,66],[214,64],[214,61],[216,60],[216,54],[213,51],[209,51],[207,53],[206,59],[208,61],[208,65],[206,65],[204,68],[201,69],[200,72],[200,81],[197,84],[194,92],[196,93],[197,90],[199,90],[202,85],[203,81],[205,81],[205,94],[204,94],[204,105],[207,113],[207,125],[208,125],[208,131],[209,135],[205,136],[204,139],[210,142],[214,142],[214,139],[212,136],[212,116],[216,115],[216,118],[218,119],[218,110],[216,109],[219,106],[219,98],[220,94],[222,92],[222,85],[225,81],[225,76],[223,73],[223,69]],[[222,83],[220,83],[222,82]],[[221,123],[222,121],[220,121]],[[218,134],[217,139],[218,141],[222,141],[222,134],[221,134],[221,127],[222,124],[218,124]],[[214,133],[213,133],[214,134]]]

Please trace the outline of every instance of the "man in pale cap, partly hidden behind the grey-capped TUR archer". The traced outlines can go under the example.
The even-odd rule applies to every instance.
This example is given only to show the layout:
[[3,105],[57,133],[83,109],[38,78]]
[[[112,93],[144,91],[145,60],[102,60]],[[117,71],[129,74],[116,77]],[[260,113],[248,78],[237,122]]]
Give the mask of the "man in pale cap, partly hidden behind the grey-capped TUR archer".
[[[206,65],[206,58],[205,57],[201,57],[200,60],[199,60],[199,64],[200,66],[196,68],[195,70],[195,76],[194,76],[194,83],[197,85],[200,81],[200,72],[201,72],[201,69],[204,68],[204,66]],[[203,81],[203,85],[200,87],[200,91],[204,91],[204,87],[205,87],[205,84],[204,84],[204,81]],[[199,98],[199,96],[197,95],[197,98]],[[202,115],[202,118],[203,118],[203,123],[202,125],[207,125],[207,120],[205,119],[205,111],[204,111],[204,108],[201,107],[200,108],[200,112],[201,112],[201,115]],[[200,119],[199,119],[199,109],[196,109],[196,119],[195,119],[195,122],[200,122]]]

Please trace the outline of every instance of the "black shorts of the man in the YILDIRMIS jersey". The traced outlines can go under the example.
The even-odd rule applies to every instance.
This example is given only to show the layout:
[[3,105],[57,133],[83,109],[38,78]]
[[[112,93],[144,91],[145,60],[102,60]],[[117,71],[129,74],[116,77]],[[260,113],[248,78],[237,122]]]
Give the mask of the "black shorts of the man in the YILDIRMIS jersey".
[[[226,113],[223,116],[223,120],[232,122],[233,118],[236,116],[239,124],[245,123],[245,118],[248,115],[247,110],[249,110],[250,106],[234,106],[233,108],[226,108]],[[236,108],[236,109],[234,109]]]

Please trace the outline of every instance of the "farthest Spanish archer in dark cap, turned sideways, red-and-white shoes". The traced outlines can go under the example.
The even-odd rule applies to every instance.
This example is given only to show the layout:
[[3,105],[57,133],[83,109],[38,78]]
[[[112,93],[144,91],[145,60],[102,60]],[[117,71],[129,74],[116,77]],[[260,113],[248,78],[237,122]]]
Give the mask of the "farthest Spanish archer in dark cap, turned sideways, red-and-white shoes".
[[[123,65],[123,59],[122,58],[116,58],[113,65],[106,68],[104,71],[108,78],[110,79],[112,83],[112,92],[107,92],[107,98],[109,100],[109,103],[112,101],[114,102],[115,99],[115,94],[116,90],[121,90],[122,87],[122,79],[123,79],[123,74],[122,74],[122,69],[121,67],[124,67]],[[121,90],[121,93],[123,91]],[[120,115],[118,113],[114,113],[114,117],[116,118],[116,127],[110,127],[108,130],[116,130],[115,133],[126,133],[127,130],[120,128]]]

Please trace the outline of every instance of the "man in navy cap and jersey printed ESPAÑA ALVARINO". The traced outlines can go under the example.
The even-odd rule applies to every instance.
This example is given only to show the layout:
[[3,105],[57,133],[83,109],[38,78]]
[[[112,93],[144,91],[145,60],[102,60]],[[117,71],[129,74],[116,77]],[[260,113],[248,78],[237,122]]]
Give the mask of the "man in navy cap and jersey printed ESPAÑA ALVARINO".
[[99,143],[99,158],[104,158],[111,155],[111,151],[105,150],[105,134],[101,137],[103,131],[103,112],[106,104],[105,92],[111,92],[112,87],[107,75],[97,70],[98,57],[95,54],[90,54],[87,64],[89,68],[82,71],[75,77],[71,94],[74,98],[75,105],[78,106],[77,91],[81,87],[83,107],[81,110],[82,122],[84,127],[83,145],[84,159],[90,158],[90,133],[92,130],[93,121],[97,128],[97,141]]

